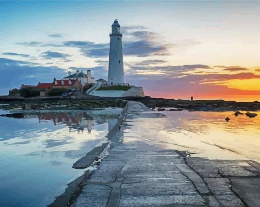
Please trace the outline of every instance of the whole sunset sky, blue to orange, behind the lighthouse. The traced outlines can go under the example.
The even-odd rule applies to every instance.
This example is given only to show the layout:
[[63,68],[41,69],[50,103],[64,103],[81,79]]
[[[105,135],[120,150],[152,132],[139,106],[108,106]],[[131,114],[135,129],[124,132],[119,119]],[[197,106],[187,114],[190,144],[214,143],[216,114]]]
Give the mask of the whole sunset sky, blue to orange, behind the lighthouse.
[[115,18],[125,82],[147,96],[260,101],[260,1],[0,1],[0,95],[107,79]]

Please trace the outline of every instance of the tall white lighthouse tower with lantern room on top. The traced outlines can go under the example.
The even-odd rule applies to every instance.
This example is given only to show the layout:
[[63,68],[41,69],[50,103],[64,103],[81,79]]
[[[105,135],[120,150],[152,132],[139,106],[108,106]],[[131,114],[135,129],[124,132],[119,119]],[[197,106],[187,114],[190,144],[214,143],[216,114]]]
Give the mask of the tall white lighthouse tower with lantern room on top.
[[109,49],[108,84],[124,83],[122,34],[117,19],[112,24]]

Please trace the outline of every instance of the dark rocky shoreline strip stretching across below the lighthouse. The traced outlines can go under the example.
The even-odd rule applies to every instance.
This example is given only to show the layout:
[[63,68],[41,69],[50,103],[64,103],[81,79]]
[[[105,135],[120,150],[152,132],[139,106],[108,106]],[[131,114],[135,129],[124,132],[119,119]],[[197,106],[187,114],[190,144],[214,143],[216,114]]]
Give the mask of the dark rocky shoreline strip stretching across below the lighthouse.
[[[260,103],[236,102],[224,100],[181,100],[164,99],[151,97],[121,97],[121,98],[102,98],[86,97],[84,99],[65,99],[62,97],[50,97],[44,99],[14,99],[11,97],[0,97],[0,106],[3,109],[64,109],[64,110],[88,110],[106,107],[121,107],[127,101],[139,101],[149,108],[176,108],[201,111],[258,111]],[[174,110],[174,109],[173,109]]]

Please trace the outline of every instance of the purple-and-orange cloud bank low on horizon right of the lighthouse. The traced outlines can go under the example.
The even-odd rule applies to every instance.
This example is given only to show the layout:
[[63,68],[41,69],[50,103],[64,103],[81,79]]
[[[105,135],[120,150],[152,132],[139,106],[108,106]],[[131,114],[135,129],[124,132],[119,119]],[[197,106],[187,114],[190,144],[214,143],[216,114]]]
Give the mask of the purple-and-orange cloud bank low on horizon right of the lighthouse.
[[230,98],[235,95],[248,96],[260,95],[260,91],[239,90],[228,88],[225,85],[214,83],[215,81],[228,81],[232,79],[259,78],[253,73],[238,74],[191,74],[179,76],[179,74],[139,75],[126,76],[127,82],[142,85],[147,95],[152,97],[168,98]]

